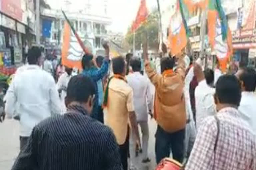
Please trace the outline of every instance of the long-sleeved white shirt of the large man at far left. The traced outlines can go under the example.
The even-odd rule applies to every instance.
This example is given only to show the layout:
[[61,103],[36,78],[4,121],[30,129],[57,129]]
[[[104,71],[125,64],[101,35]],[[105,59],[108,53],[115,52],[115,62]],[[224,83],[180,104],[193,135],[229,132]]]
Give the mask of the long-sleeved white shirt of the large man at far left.
[[[21,70],[21,69],[20,69]],[[38,65],[25,65],[12,80],[5,96],[5,113],[20,117],[20,136],[51,115],[60,114],[61,104],[53,77]]]

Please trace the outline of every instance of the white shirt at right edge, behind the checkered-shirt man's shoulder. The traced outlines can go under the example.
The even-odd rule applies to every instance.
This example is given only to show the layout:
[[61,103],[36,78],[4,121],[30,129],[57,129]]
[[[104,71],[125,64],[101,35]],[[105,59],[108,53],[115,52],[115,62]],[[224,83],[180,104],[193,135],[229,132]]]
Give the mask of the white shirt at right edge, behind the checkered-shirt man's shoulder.
[[256,95],[254,92],[242,92],[242,98],[238,111],[252,132],[256,134]]

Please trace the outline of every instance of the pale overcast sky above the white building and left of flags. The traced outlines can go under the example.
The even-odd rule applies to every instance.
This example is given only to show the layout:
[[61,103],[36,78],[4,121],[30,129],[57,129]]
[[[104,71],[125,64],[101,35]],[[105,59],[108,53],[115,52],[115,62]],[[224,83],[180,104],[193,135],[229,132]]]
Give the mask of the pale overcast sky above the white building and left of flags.
[[[101,1],[104,2],[104,0]],[[60,6],[64,6],[65,0],[48,0],[47,2],[51,8],[60,8]],[[74,10],[81,9],[81,2],[84,0],[70,0],[70,2],[72,2],[70,8]],[[109,30],[125,34],[136,17],[140,0],[108,0],[108,3],[109,15],[113,20],[112,25],[108,27]],[[157,0],[147,0],[149,10],[154,6],[157,6]]]

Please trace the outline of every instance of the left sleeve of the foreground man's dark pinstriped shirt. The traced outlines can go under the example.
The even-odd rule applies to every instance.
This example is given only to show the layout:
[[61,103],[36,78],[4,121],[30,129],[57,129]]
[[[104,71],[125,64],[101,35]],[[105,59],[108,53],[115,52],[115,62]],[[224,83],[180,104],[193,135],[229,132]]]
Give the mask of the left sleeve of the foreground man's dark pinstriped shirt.
[[32,170],[39,168],[37,163],[37,143],[38,131],[35,127],[28,138],[27,145],[16,158],[12,170]]

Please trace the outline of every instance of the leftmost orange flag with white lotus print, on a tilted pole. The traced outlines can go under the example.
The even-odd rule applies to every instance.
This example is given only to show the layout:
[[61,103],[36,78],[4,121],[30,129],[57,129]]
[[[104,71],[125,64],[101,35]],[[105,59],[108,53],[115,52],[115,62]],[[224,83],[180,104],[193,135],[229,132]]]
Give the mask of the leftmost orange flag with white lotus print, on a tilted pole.
[[[92,53],[92,44],[84,40],[83,44]],[[81,60],[84,55],[84,50],[79,44],[68,22],[64,24],[63,44],[62,44],[62,64],[71,67],[82,69]]]

